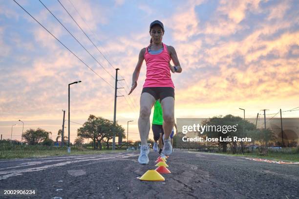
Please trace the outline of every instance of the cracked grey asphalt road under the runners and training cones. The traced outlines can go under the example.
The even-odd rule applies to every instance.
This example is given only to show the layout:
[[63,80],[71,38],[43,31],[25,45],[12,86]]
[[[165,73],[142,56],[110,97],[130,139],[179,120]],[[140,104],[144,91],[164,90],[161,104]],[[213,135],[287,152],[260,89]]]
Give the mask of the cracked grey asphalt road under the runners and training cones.
[[[299,165],[175,150],[165,181],[140,181],[155,169],[138,152],[0,160],[0,189],[35,190],[42,199],[299,199]],[[56,198],[55,198],[56,197]]]

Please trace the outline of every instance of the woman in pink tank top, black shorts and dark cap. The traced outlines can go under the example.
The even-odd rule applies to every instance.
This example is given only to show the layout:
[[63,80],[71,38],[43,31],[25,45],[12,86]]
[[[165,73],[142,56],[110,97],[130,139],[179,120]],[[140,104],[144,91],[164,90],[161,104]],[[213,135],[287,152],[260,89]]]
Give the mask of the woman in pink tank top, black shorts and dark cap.
[[[140,164],[148,164],[149,147],[147,139],[150,129],[150,111],[156,100],[161,101],[163,110],[163,130],[164,130],[164,147],[163,154],[170,155],[171,130],[174,125],[174,85],[171,80],[172,73],[181,73],[182,68],[177,58],[175,49],[162,43],[164,35],[164,25],[161,21],[155,20],[149,26],[150,44],[148,47],[141,49],[136,68],[133,73],[132,87],[129,94],[137,86],[137,80],[143,60],[146,61],[147,74],[143,84],[140,97],[140,114],[138,119],[138,129],[141,139]],[[171,65],[172,60],[174,66]]]

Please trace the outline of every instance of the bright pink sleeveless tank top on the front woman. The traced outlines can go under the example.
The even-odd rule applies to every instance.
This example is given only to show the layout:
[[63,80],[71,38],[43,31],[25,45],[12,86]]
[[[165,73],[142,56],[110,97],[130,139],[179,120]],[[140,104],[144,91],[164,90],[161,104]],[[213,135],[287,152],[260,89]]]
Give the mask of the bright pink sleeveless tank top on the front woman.
[[147,76],[143,84],[145,87],[172,87],[174,88],[171,80],[171,72],[169,62],[171,57],[168,53],[167,46],[163,44],[163,51],[157,55],[149,54],[148,48],[144,54],[144,59],[147,64]]

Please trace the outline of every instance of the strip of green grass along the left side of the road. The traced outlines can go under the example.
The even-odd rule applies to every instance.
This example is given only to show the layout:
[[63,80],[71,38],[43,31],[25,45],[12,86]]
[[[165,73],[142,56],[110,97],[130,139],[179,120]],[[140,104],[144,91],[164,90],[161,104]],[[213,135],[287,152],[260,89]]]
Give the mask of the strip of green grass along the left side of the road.
[[49,147],[42,145],[10,145],[0,144],[0,159],[16,159],[16,158],[41,158],[47,156],[64,156],[64,155],[98,155],[111,152],[123,152],[125,150],[78,150],[78,148],[71,148],[71,153],[67,153],[67,148]]

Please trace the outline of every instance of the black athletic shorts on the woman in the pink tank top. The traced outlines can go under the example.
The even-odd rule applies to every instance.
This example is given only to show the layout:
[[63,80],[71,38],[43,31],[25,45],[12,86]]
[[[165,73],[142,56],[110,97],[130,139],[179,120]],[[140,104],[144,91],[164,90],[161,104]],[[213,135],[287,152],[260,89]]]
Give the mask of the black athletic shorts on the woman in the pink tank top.
[[141,93],[149,93],[156,100],[162,101],[166,97],[174,98],[174,89],[172,87],[145,87]]

